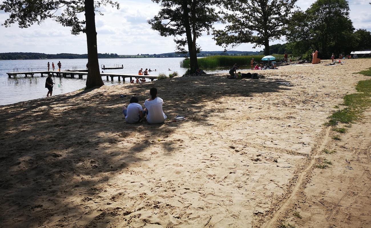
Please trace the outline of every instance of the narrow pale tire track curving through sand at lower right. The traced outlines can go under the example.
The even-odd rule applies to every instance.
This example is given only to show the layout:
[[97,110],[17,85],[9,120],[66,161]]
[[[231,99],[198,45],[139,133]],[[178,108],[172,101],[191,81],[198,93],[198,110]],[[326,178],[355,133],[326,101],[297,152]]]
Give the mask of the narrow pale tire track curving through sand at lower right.
[[330,127],[328,127],[326,129],[325,137],[324,137],[324,139],[321,143],[321,146],[319,146],[319,148],[317,148],[315,153],[311,156],[311,158],[312,158],[311,162],[303,170],[303,172],[300,174],[299,179],[296,182],[294,188],[292,189],[292,192],[291,192],[289,198],[287,198],[285,200],[285,202],[283,202],[283,204],[280,206],[280,208],[273,214],[273,217],[265,225],[266,228],[269,228],[269,227],[272,226],[272,224],[277,220],[277,218],[279,217],[281,212],[283,212],[286,209],[286,207],[290,204],[290,201],[296,195],[296,192],[298,192],[299,188],[301,187],[301,184],[302,184],[302,181],[303,181],[303,178],[304,178],[305,174],[309,171],[309,169],[312,168],[312,166],[314,165],[314,162],[316,161],[316,159],[314,157],[325,148],[325,145],[327,144],[328,139],[329,139],[330,129],[331,129]]

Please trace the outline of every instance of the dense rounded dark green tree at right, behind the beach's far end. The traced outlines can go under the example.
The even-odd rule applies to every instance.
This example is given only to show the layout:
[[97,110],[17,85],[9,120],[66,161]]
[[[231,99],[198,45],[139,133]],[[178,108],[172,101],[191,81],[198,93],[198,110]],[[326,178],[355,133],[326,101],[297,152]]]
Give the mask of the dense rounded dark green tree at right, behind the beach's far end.
[[348,1],[317,0],[305,12],[293,14],[286,37],[293,49],[301,53],[318,50],[320,58],[328,59],[332,53],[350,53],[353,31]]

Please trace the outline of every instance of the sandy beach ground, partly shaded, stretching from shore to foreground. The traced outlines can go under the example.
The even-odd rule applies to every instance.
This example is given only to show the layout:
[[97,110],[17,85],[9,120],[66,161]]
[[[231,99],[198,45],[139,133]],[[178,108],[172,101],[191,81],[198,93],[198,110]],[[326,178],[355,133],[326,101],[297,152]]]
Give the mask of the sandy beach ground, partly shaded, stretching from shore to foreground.
[[[1,106],[0,226],[370,227],[371,112],[342,141],[323,125],[370,66],[177,77]],[[125,123],[121,107],[134,95],[143,105],[151,87],[170,120],[187,120]],[[333,165],[314,168],[324,158]]]

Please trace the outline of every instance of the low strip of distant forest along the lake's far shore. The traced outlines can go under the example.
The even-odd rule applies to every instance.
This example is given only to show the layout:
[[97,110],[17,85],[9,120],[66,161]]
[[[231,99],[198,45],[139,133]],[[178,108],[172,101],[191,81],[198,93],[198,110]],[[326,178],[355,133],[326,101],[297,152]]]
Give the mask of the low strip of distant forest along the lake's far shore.
[[[197,53],[198,57],[213,56],[213,55],[227,55],[227,56],[239,56],[239,55],[256,55],[259,52],[242,52],[242,51],[201,51]],[[185,57],[189,54],[179,54],[175,52],[162,53],[162,54],[136,54],[136,55],[119,55],[116,53],[98,53],[98,58],[174,58],[174,57]],[[87,59],[88,54],[45,54],[45,53],[34,53],[34,52],[7,52],[0,53],[0,59],[16,60],[16,59]]]

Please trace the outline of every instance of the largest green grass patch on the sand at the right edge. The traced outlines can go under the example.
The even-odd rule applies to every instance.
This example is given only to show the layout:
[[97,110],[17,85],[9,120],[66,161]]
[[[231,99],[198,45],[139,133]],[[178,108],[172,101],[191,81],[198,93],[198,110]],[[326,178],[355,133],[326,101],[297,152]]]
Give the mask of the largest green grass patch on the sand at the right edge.
[[[371,76],[371,67],[359,74]],[[358,82],[355,87],[357,93],[344,96],[344,105],[347,108],[337,110],[329,116],[328,126],[336,126],[338,123],[352,123],[362,117],[362,113],[371,106],[371,79]],[[336,106],[335,106],[336,107]]]

